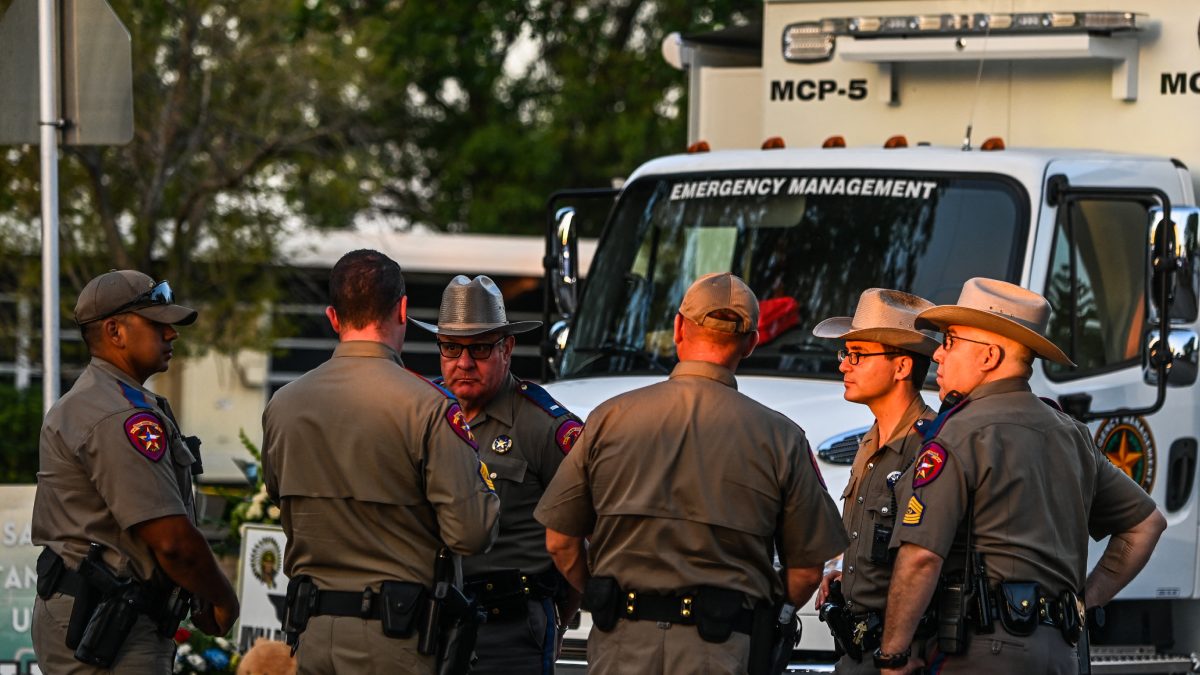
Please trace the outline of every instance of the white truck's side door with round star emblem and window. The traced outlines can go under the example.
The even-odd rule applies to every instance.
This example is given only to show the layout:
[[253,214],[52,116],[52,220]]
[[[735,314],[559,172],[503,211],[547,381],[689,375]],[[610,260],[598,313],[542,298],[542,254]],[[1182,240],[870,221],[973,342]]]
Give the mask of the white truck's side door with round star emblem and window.
[[[1044,293],[1055,310],[1050,339],[1076,364],[1069,369],[1042,362],[1034,369],[1033,388],[1068,401],[1090,395],[1093,412],[1147,408],[1158,393],[1156,381],[1147,376],[1159,311],[1150,293],[1151,209],[1157,191],[1129,189],[1136,183],[1130,183],[1124,168],[1098,172],[1092,167],[1072,179],[1069,173],[1078,167],[1051,165],[1049,173],[1058,175],[1049,180],[1051,198],[1043,207],[1031,269],[1031,287]],[[1104,185],[1097,185],[1097,177],[1105,174],[1111,175],[1115,190],[1098,192],[1094,189]],[[1142,178],[1147,185],[1170,185]],[[1073,192],[1069,185],[1088,190]],[[1193,313],[1186,322],[1172,323],[1194,334],[1195,318]],[[1196,387],[1188,383],[1170,388],[1157,412],[1088,424],[1097,446],[1154,497],[1169,522],[1146,569],[1120,598],[1196,595]],[[1092,543],[1088,568],[1105,544]]]

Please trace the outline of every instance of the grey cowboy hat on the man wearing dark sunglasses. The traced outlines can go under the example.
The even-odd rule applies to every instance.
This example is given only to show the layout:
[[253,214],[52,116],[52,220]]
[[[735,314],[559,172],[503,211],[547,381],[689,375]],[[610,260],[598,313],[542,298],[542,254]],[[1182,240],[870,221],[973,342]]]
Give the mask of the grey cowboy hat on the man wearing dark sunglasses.
[[409,321],[430,333],[451,338],[470,338],[492,331],[512,335],[541,325],[540,321],[510,322],[504,313],[504,297],[494,281],[484,275],[467,279],[461,274],[451,279],[442,293],[437,325],[415,318]]

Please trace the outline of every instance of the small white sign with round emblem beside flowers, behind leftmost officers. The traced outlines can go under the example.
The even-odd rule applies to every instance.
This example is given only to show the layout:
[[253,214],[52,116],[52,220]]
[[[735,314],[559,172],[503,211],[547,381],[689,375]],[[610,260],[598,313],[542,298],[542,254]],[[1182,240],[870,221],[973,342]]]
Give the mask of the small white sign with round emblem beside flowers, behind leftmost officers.
[[288,578],[283,574],[287,538],[277,525],[242,525],[238,561],[238,650],[242,653],[258,638],[283,641],[283,604]]

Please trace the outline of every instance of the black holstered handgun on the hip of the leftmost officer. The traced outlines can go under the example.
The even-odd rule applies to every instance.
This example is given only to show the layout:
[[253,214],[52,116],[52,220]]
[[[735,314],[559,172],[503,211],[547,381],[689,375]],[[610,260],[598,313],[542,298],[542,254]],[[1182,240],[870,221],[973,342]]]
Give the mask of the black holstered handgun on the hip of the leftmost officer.
[[97,668],[113,665],[144,607],[140,584],[113,574],[101,560],[103,550],[104,546],[92,543],[79,563],[79,575],[100,596],[100,602],[74,651],[77,661]]

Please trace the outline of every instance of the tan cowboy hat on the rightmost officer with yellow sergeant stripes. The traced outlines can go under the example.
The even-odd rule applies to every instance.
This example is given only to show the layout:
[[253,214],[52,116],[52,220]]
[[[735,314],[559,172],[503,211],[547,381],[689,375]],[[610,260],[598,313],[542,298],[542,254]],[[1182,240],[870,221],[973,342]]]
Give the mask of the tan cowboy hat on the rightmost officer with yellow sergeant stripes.
[[1002,335],[1033,350],[1037,356],[1074,366],[1054,342],[1043,335],[1050,324],[1050,303],[1015,283],[976,276],[962,285],[956,305],[937,305],[917,317],[920,328],[946,330],[968,325]]

